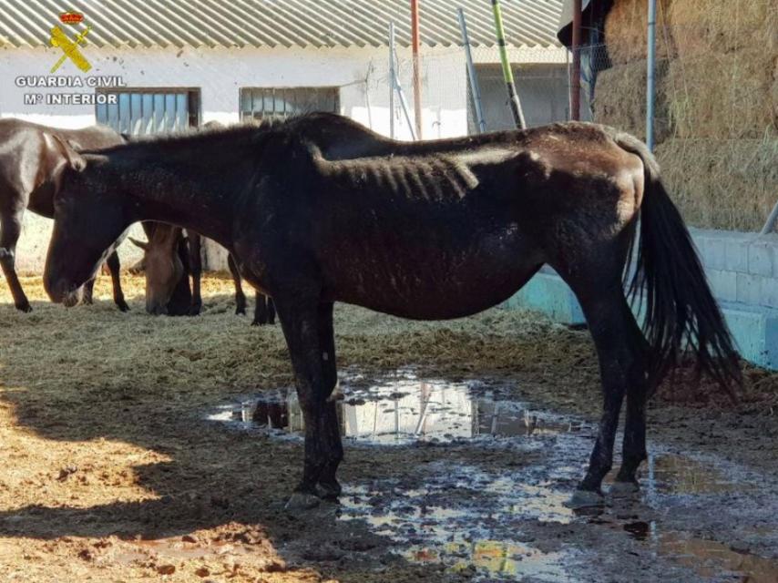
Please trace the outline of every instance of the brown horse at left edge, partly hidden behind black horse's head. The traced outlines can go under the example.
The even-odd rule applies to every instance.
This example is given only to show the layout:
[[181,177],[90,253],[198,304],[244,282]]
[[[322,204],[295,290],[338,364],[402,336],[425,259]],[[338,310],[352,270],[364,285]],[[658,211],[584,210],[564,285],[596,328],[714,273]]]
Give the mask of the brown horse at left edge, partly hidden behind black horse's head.
[[[76,150],[107,148],[123,138],[109,128],[58,129],[38,126],[21,119],[0,119],[0,267],[14,296],[16,309],[32,310],[16,275],[16,242],[22,230],[25,210],[54,218],[54,195],[59,188],[66,159],[52,138],[56,135]],[[107,256],[114,286],[114,301],[127,311],[119,281],[116,251]],[[86,282],[84,299],[91,301],[94,280]]]

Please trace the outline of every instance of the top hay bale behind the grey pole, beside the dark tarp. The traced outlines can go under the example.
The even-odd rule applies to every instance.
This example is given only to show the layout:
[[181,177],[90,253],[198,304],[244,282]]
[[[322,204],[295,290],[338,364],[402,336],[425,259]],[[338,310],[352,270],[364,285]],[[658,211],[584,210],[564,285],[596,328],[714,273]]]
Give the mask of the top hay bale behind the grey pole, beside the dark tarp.
[[[660,0],[657,23],[667,22],[669,9],[679,0]],[[646,30],[649,23],[648,0],[616,0],[605,19],[605,42],[614,66],[645,61],[647,54]],[[658,30],[657,57],[671,58],[675,50],[671,37]]]

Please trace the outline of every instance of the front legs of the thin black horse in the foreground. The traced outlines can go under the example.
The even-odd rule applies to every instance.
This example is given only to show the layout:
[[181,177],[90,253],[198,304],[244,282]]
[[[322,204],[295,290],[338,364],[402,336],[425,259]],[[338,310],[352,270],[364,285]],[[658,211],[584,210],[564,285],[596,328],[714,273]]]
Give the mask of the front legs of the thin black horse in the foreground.
[[[295,488],[287,507],[311,508],[319,504],[316,485],[330,478],[325,470],[332,470],[333,462],[340,461],[342,451],[333,449],[328,427],[327,386],[322,368],[319,297],[317,292],[280,292],[276,308],[297,384],[297,396],[305,422],[305,460],[302,480]],[[335,466],[337,464],[335,463]],[[332,486],[332,479],[326,479]]]

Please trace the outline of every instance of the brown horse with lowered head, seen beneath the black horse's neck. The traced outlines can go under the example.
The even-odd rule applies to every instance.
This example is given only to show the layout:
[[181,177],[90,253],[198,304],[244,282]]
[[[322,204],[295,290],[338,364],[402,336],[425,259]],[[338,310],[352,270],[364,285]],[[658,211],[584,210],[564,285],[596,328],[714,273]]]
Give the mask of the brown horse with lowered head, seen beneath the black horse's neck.
[[[143,258],[130,271],[145,275],[146,311],[170,316],[199,314],[202,308],[202,237],[194,231],[185,234],[180,227],[154,221],[144,222],[143,230],[147,240],[128,239],[143,250]],[[241,285],[241,273],[230,254],[227,264],[235,283],[235,313],[245,314],[246,295]],[[266,323],[275,323],[273,303],[271,298],[256,292],[251,324]]]

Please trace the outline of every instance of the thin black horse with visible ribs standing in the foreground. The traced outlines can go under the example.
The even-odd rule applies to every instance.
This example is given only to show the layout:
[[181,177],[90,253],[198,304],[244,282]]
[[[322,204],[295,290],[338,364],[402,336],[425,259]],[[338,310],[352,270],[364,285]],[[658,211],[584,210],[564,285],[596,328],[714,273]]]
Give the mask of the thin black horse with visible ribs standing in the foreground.
[[[336,147],[326,146],[328,136]],[[218,241],[273,298],[305,420],[292,506],[340,492],[334,302],[459,318],[503,302],[552,266],[586,315],[603,388],[579,504],[601,496],[625,396],[617,481],[637,485],[647,397],[684,348],[723,386],[740,382],[731,337],[659,168],[638,139],[615,129],[568,123],[400,143],[318,114],[94,154],[62,146],[72,170],[56,195],[46,260],[53,301],[91,278],[138,220]],[[623,286],[633,244],[643,332]]]

